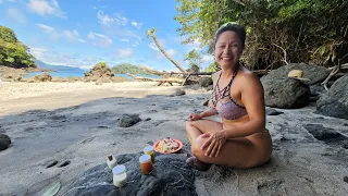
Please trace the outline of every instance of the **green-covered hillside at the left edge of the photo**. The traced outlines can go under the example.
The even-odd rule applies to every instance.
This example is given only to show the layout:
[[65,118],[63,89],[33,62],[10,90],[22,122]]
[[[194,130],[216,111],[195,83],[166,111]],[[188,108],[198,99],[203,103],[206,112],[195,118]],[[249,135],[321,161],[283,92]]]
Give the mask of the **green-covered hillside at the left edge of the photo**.
[[0,26],[0,64],[13,68],[35,66],[29,48],[17,40],[14,32]]

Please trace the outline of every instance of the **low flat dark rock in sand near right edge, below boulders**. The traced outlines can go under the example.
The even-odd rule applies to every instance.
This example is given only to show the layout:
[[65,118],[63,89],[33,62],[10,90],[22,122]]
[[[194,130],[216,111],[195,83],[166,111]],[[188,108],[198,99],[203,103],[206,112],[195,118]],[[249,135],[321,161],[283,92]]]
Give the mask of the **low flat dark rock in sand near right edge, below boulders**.
[[324,127],[322,124],[306,124],[304,128],[316,139],[324,140],[326,144],[343,145],[348,142],[348,137],[341,135],[334,128]]

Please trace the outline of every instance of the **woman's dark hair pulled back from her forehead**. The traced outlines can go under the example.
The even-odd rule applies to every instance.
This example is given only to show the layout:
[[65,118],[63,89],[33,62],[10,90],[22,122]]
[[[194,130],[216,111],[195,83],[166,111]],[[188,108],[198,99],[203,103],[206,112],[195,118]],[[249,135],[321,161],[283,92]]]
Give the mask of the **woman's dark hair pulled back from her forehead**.
[[214,37],[214,48],[215,48],[219,36],[222,33],[228,32],[228,30],[235,32],[238,35],[241,42],[241,48],[244,48],[246,44],[246,29],[241,25],[234,22],[225,23],[216,30],[215,37]]

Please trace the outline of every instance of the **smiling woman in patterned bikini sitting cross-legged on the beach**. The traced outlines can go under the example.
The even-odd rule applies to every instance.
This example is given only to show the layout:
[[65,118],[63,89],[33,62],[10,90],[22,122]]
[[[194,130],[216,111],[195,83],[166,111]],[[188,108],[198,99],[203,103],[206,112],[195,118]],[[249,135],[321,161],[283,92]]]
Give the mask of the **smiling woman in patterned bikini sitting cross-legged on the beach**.
[[[252,168],[271,157],[263,87],[259,77],[239,62],[245,39],[245,28],[234,23],[215,33],[214,56],[221,71],[212,74],[210,109],[190,113],[186,122],[194,155],[187,163],[197,170],[208,170],[212,163]],[[204,119],[215,114],[221,122]]]

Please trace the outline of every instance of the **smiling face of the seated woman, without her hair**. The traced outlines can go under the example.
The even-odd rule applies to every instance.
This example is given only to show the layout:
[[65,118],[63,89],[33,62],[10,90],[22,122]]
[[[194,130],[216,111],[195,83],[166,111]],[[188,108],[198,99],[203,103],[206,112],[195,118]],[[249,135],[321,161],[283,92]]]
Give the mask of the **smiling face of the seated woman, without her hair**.
[[215,45],[215,61],[222,68],[233,68],[243,53],[243,45],[235,32],[220,34]]

